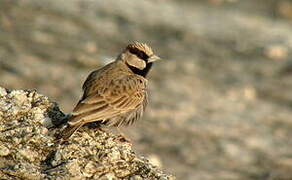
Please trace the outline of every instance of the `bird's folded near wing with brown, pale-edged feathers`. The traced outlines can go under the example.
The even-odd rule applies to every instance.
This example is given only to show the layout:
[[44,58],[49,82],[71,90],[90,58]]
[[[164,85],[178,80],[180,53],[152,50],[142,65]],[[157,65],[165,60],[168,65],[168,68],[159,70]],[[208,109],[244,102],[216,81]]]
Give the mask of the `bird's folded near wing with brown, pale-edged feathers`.
[[84,96],[77,104],[69,120],[70,125],[106,120],[127,113],[143,104],[147,80],[127,75],[100,86],[94,93]]

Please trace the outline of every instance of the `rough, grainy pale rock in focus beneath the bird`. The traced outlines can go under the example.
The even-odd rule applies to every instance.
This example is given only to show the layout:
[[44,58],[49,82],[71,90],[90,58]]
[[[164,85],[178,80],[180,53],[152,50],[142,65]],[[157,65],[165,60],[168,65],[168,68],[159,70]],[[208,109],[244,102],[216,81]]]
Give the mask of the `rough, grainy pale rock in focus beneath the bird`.
[[52,122],[65,117],[36,91],[0,87],[0,179],[174,179],[109,132],[84,127],[56,144]]

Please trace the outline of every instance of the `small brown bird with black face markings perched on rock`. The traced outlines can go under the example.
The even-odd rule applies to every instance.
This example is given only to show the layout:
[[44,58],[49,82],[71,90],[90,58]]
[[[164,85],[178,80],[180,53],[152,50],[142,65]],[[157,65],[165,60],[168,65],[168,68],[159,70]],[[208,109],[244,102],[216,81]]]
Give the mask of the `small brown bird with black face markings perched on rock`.
[[149,46],[134,42],[115,61],[91,72],[61,138],[67,140],[87,123],[119,127],[141,118],[148,102],[146,76],[159,59]]

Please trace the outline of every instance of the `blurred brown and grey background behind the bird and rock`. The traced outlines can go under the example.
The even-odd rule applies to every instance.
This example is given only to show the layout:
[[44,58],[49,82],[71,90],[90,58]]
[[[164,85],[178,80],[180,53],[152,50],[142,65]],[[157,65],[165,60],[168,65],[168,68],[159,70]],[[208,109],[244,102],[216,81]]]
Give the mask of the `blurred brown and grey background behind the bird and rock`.
[[164,61],[135,151],[185,180],[292,179],[291,0],[0,0],[0,86],[69,113],[134,40]]

